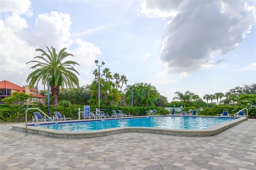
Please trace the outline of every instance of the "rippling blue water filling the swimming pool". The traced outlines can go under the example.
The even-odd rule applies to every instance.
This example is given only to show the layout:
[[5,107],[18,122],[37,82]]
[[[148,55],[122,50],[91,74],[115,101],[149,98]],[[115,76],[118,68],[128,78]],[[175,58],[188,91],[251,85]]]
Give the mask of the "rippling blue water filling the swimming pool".
[[169,129],[204,129],[224,122],[232,121],[234,118],[221,117],[174,117],[156,116],[129,119],[109,119],[97,121],[82,121],[72,123],[59,123],[60,128],[55,123],[44,125],[33,125],[35,127],[50,128],[65,131],[90,131],[102,130],[116,127],[154,127]]

